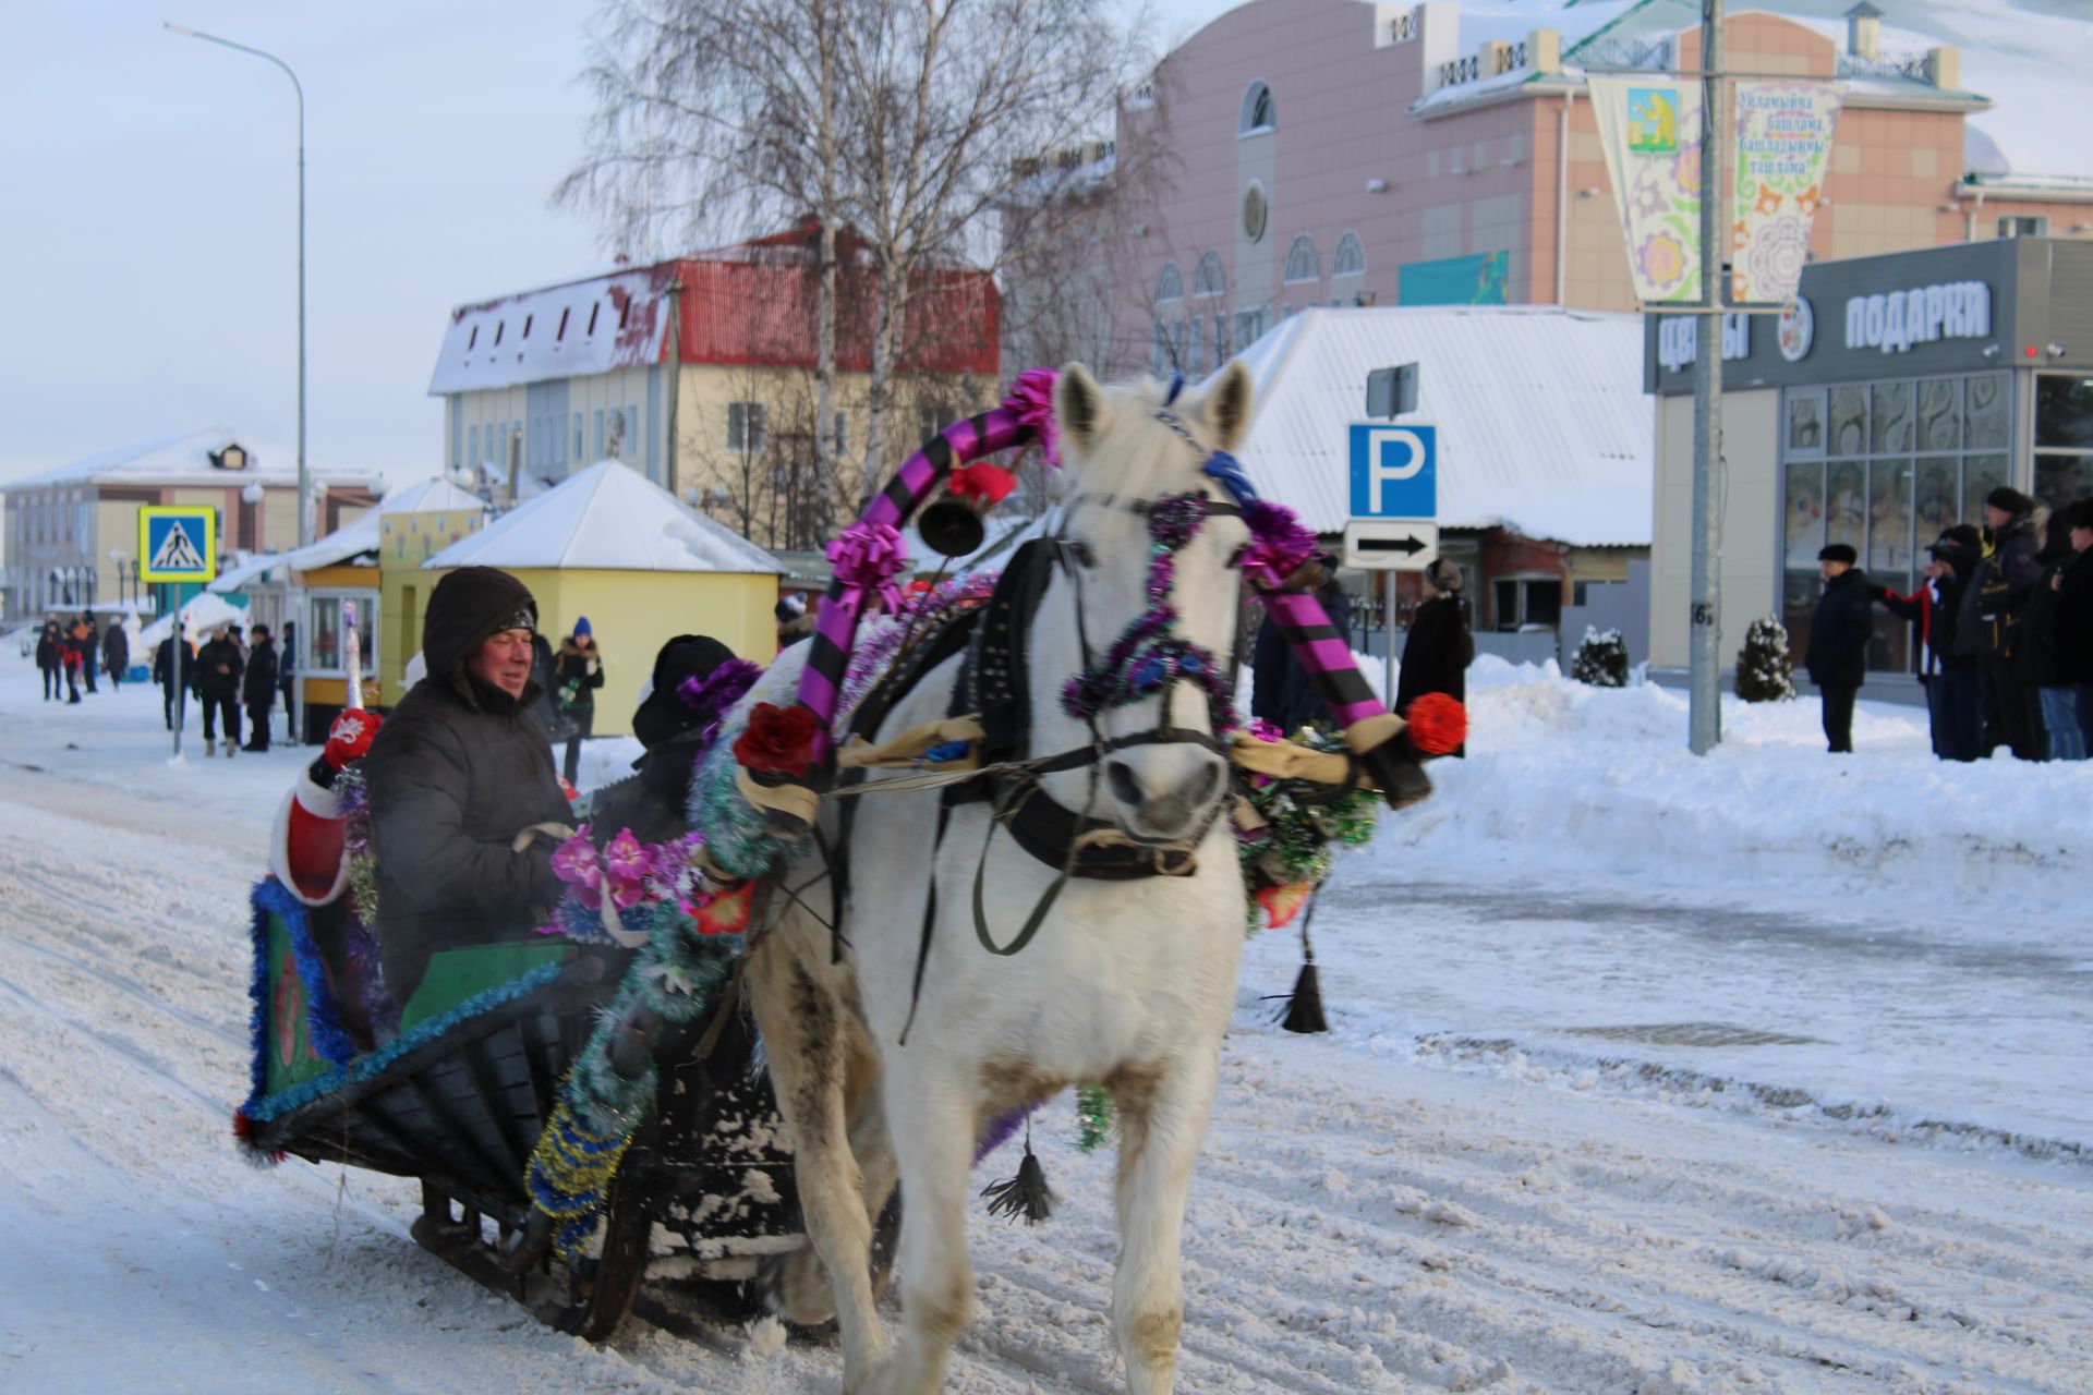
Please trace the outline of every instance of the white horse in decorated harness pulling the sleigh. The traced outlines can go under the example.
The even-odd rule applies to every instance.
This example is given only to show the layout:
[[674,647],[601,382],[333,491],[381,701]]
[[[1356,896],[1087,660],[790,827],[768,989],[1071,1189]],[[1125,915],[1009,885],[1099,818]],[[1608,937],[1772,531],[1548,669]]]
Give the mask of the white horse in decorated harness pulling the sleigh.
[[[1080,366],[1061,372],[1059,561],[1023,636],[1030,753],[1097,757],[1042,776],[1042,791],[1109,824],[1107,841],[1122,849],[1174,845],[1180,857],[1195,855],[1195,868],[1143,881],[1072,878],[1036,937],[1005,958],[977,939],[975,895],[982,922],[1007,945],[1042,906],[1057,868],[1003,826],[990,837],[988,803],[954,807],[938,839],[936,791],[873,791],[856,797],[843,849],[839,941],[823,924],[829,899],[816,885],[753,950],[751,1002],[791,1127],[812,1244],[772,1276],[772,1299],[795,1322],[837,1318],[843,1389],[854,1395],[940,1389],[973,1297],[965,1236],[977,1140],[990,1119],[1076,1083],[1109,1090],[1120,1121],[1111,1322],[1126,1387],[1134,1395],[1172,1387],[1185,1313],[1185,1190],[1243,941],[1243,881],[1222,816],[1226,765],[1212,742],[1187,738],[1187,730],[1210,734],[1206,694],[1189,680],[1105,709],[1095,728],[1063,711],[1059,692],[1149,609],[1149,506],[1166,496],[1214,500],[1176,552],[1170,600],[1178,636],[1226,663],[1247,529],[1199,466],[1241,441],[1250,395],[1241,364],[1206,395],[1170,408],[1153,383],[1107,391]],[[871,736],[944,717],[959,667],[954,657],[927,673]],[[797,669],[783,657],[762,692],[783,701]],[[833,801],[823,822],[837,832]],[[820,853],[810,849],[789,883],[818,872]],[[869,1253],[896,1173],[904,1330],[890,1347],[873,1307]]]

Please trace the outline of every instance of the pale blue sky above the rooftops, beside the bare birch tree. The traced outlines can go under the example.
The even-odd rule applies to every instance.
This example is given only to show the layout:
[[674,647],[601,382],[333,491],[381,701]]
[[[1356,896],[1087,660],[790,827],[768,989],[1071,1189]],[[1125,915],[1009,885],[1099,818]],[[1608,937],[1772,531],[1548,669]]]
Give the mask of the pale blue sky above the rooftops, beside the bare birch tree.
[[[1162,0],[1185,33],[1233,0]],[[452,305],[609,266],[548,207],[582,148],[592,2],[15,0],[0,67],[0,479],[222,422],[297,439],[306,86],[308,454],[440,468]]]

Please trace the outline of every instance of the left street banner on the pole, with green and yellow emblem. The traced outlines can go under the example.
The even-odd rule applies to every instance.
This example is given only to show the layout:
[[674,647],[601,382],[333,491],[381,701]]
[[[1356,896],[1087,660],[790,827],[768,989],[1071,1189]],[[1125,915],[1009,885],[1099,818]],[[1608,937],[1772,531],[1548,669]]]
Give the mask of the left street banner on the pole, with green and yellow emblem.
[[1628,284],[1645,305],[1700,301],[1700,84],[1589,77],[1614,207],[1628,238]]

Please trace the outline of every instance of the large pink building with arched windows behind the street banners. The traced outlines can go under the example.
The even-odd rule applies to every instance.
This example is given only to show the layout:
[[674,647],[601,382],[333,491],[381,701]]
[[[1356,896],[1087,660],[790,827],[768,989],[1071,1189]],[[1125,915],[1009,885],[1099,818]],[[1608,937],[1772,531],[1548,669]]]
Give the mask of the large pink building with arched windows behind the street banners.
[[[1955,48],[1888,50],[1865,0],[1840,23],[1779,8],[1733,4],[1729,69],[1842,88],[1817,259],[1988,238],[2001,218],[2093,232],[2093,180],[1984,157],[1995,146],[1963,121],[1993,98],[1961,86]],[[1635,310],[1584,73],[1691,71],[1697,15],[1691,0],[1222,15],[1120,113],[1116,366],[1208,372],[1308,305]]]

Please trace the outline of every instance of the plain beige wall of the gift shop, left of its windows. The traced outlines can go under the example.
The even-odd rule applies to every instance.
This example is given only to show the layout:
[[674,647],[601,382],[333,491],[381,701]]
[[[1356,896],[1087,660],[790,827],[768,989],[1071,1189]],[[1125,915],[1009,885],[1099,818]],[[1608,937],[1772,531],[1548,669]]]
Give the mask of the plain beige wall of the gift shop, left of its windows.
[[[1754,619],[1781,613],[1777,389],[1723,393],[1720,567],[1723,665]],[[1685,667],[1693,596],[1693,397],[1658,397],[1656,542],[1649,548],[1649,661]]]

